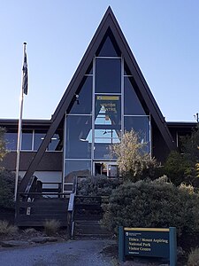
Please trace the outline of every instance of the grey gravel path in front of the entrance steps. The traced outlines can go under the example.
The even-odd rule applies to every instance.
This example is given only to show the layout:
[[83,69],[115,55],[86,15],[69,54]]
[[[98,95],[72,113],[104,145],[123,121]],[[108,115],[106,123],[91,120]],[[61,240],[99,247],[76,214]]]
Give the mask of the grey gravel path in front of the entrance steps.
[[114,266],[112,258],[101,253],[115,244],[108,239],[72,240],[27,248],[0,251],[1,266]]

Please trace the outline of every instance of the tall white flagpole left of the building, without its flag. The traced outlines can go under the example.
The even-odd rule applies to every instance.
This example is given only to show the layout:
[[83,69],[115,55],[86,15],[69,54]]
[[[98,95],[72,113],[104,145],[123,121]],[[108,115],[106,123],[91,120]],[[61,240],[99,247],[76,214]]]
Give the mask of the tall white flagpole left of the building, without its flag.
[[[26,45],[24,43],[24,57],[26,54]],[[21,137],[22,137],[22,114],[23,114],[23,102],[24,102],[24,88],[23,88],[23,78],[24,73],[22,73],[22,82],[19,98],[19,125],[18,125],[18,144],[17,144],[17,158],[16,158],[16,176],[15,176],[15,189],[14,189],[14,201],[17,200],[18,193],[18,181],[19,181],[19,159],[20,159],[20,149],[21,149]]]

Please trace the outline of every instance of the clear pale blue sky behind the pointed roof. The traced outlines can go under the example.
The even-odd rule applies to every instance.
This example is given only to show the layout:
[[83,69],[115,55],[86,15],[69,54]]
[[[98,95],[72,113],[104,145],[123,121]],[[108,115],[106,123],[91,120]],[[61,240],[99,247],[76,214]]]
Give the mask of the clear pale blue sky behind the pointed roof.
[[1,0],[0,118],[19,117],[23,43],[29,87],[23,118],[50,119],[111,5],[166,121],[199,112],[197,0]]

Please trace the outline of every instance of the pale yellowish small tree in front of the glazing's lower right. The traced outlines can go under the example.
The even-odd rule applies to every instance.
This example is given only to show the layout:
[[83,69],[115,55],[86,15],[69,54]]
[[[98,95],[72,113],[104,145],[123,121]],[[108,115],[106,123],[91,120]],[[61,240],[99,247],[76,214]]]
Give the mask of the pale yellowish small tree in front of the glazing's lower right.
[[134,129],[126,131],[119,144],[112,145],[111,151],[118,158],[119,173],[125,179],[136,181],[154,176],[157,161],[151,159],[149,153],[144,153],[145,146]]

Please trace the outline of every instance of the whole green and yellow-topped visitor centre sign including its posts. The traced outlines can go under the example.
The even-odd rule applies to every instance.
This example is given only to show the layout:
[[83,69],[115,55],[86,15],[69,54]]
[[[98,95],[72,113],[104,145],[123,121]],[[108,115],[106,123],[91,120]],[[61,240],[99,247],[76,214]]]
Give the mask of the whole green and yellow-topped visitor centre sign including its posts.
[[176,266],[176,228],[128,228],[119,226],[119,261],[126,256],[159,257]]

